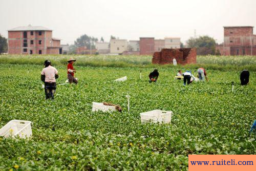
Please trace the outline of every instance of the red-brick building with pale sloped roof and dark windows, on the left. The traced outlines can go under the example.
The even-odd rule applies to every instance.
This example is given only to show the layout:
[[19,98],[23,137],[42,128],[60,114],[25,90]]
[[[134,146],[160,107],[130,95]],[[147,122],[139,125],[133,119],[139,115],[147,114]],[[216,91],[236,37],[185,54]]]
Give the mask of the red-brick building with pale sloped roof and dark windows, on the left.
[[52,30],[41,26],[17,27],[8,30],[9,54],[61,54],[60,39]]

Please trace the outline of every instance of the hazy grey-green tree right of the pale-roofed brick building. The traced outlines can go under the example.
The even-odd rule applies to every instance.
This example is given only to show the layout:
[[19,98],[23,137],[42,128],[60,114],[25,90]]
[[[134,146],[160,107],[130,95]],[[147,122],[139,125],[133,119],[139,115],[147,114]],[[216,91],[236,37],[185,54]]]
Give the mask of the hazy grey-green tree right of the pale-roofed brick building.
[[95,49],[95,42],[97,42],[97,41],[98,41],[98,38],[91,37],[91,36],[84,34],[76,39],[75,46],[76,47],[86,46],[87,49],[90,49],[90,46],[92,45],[92,49]]

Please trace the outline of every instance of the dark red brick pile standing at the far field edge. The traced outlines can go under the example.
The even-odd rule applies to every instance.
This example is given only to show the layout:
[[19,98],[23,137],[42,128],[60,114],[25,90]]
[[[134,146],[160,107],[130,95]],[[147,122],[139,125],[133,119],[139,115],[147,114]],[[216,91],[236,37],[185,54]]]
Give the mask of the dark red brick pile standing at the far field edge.
[[177,63],[181,65],[196,63],[197,51],[191,48],[162,49],[161,52],[154,53],[152,63],[162,65],[172,64],[174,58],[177,60]]

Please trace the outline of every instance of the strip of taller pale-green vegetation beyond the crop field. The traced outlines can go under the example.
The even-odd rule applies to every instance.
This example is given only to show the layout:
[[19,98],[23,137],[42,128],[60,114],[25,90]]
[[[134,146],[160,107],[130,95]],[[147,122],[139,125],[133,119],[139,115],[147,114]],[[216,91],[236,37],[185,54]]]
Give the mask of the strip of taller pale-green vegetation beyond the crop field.
[[[0,55],[1,63],[11,64],[32,64],[42,65],[47,60],[53,61],[56,65],[66,65],[67,59],[77,59],[77,66],[91,67],[139,67],[139,68],[180,68],[173,65],[153,65],[152,56],[136,55]],[[256,56],[197,56],[197,64],[187,65],[189,68],[197,69],[204,67],[221,71],[256,71]]]

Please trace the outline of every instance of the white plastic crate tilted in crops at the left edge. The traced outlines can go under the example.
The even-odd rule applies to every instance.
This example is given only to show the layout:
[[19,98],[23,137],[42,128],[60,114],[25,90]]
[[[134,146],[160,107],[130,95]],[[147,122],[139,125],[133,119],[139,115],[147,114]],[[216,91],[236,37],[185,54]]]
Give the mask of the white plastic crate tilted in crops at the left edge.
[[32,136],[31,122],[26,120],[11,120],[0,129],[0,136],[29,138]]

